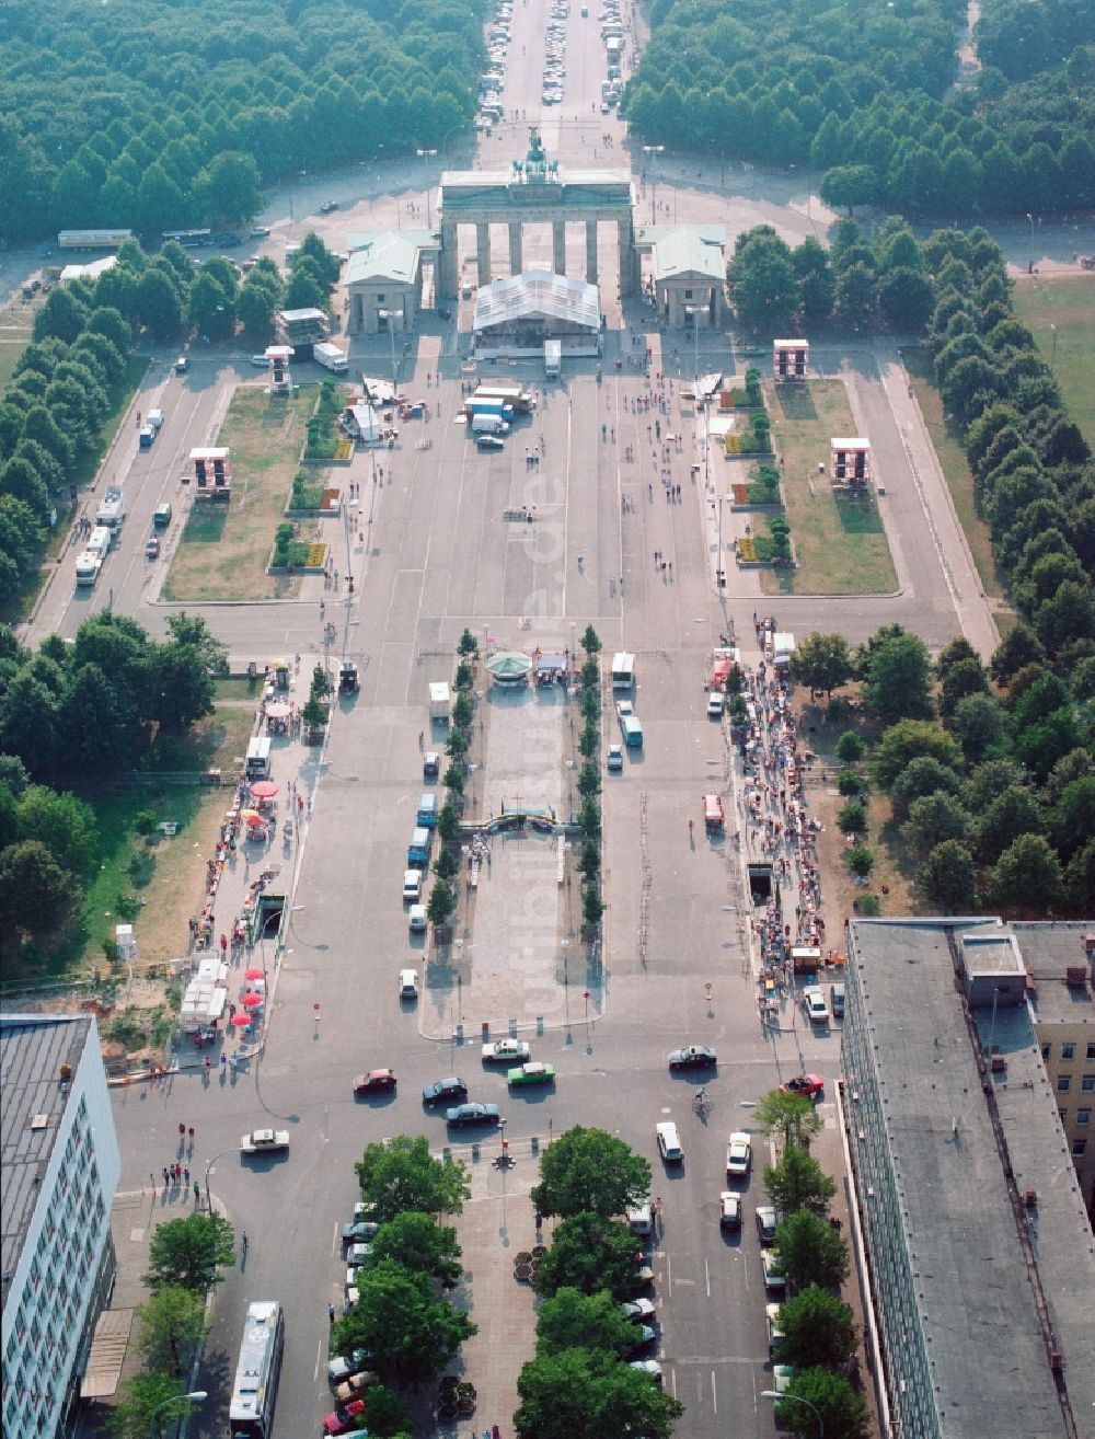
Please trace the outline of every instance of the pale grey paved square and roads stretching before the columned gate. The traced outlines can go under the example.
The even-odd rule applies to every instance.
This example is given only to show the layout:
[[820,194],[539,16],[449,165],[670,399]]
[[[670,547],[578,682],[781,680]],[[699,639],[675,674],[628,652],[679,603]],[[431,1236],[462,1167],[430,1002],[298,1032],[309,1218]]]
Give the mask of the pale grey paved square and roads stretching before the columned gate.
[[[584,47],[571,40],[564,119],[580,118],[583,91],[591,86],[599,94],[600,83],[596,10],[581,22],[577,9],[571,7],[570,30],[577,35],[589,27],[591,39]],[[545,14],[545,6],[515,10],[511,62],[517,63],[524,43],[527,63],[514,69],[506,101],[511,92],[527,95],[530,119],[540,109]],[[581,153],[590,142],[587,137],[583,147],[581,134],[583,127],[563,125],[560,142]],[[504,148],[502,140],[486,144]],[[315,196],[321,197],[325,191]],[[353,213],[340,212],[325,223],[361,227],[363,219],[383,213],[387,203],[361,199]],[[612,315],[609,253],[606,246]],[[580,255],[576,269],[578,263]],[[629,325],[640,315],[629,308]],[[658,345],[658,337],[652,342]],[[681,341],[666,337],[666,351],[675,342]],[[737,813],[732,757],[722,730],[704,712],[704,662],[730,619],[740,635],[753,635],[757,596],[735,580],[725,612],[717,600],[708,507],[689,478],[691,420],[682,432],[688,443],[672,462],[682,498],[668,504],[649,458],[649,417],[630,409],[636,396],[646,394],[646,384],[637,374],[614,371],[616,344],[610,332],[603,384],[596,383],[593,364],[568,367],[565,384],[544,397],[506,448],[483,455],[453,423],[462,377],[455,332],[423,325],[412,361],[413,386],[439,406],[440,416],[422,427],[407,426],[403,449],[386,459],[383,486],[373,488],[371,465],[363,458],[354,471],[367,494],[367,535],[353,541],[351,554],[357,593],[353,600],[328,596],[325,617],[337,622],[337,648],[360,659],[363,688],[340,711],[322,755],[265,1053],[235,1078],[206,1082],[184,1073],[163,1089],[115,1095],[122,1187],[140,1186],[150,1170],[176,1157],[180,1121],[197,1131],[190,1161],[196,1174],[212,1156],[230,1151],[216,1161],[212,1189],[237,1227],[247,1230],[250,1249],[242,1279],[230,1276],[217,1295],[200,1381],[210,1400],[194,1419],[201,1435],[223,1433],[243,1309],[249,1299],[266,1297],[279,1297],[288,1307],[278,1433],[315,1432],[330,1407],[322,1380],[327,1305],[341,1299],[337,1226],[350,1216],[355,1197],[353,1161],[365,1143],[397,1132],[429,1134],[440,1151],[443,1124],[423,1114],[416,1097],[424,1082],[452,1072],[469,1081],[472,1098],[502,1105],[506,1138],[518,1156],[502,1197],[509,1215],[504,1207],[495,1225],[479,1216],[494,1215],[491,1206],[498,1204],[489,1168],[498,1137],[485,1141],[478,1158],[471,1140],[452,1141],[473,1170],[473,1204],[462,1233],[473,1271],[465,1294],[482,1330],[475,1348],[469,1345],[475,1363],[486,1366],[491,1347],[504,1353],[517,1330],[525,1335],[524,1353],[531,1350],[527,1295],[498,1305],[476,1302],[476,1297],[491,1292],[491,1275],[508,1266],[512,1238],[528,1230],[522,1194],[534,1171],[532,1140],[547,1143],[574,1122],[599,1124],[650,1158],[653,1190],[663,1199],[655,1259],[658,1356],[666,1383],[688,1406],[681,1433],[688,1439],[721,1439],[727,1429],[765,1439],[773,1433],[770,1406],[758,1399],[767,1383],[767,1340],[753,1227],[767,1145],[757,1140],[742,1235],[727,1240],[718,1227],[725,1141],[731,1130],[750,1127],[750,1105],[790,1073],[817,1069],[832,1084],[839,1036],[801,1027],[761,1035],[741,856],[730,837],[712,845],[688,832],[699,796],[711,787],[724,791],[728,814]],[[368,373],[386,373],[387,358],[386,342],[353,348],[354,367]],[[896,417],[888,407],[895,396],[886,368],[892,360],[883,357],[879,371],[865,350],[824,358],[827,368],[849,371],[853,403],[894,471],[889,524],[905,591],[886,600],[797,599],[771,607],[781,623],[801,632],[836,626],[862,639],[878,625],[901,619],[931,643],[942,643],[955,633],[957,619],[940,554],[953,574],[960,561],[957,551],[948,555],[953,535],[947,525],[938,527],[937,544],[924,522],[934,491],[921,492],[908,471],[901,472],[902,463],[908,466],[902,435],[914,417],[904,404]],[[676,361],[659,353],[655,368],[689,374],[691,360],[688,348]],[[701,368],[728,363],[725,351],[711,345],[701,347],[699,360]],[[442,383],[427,390],[426,371],[437,368]],[[104,584],[114,587],[115,604],[157,633],[168,610],[153,603],[154,586],[138,564],[138,545],[154,505],[181,496],[171,489],[178,456],[212,437],[227,399],[226,383],[245,373],[212,354],[199,354],[186,380],[164,378],[161,364],[137,401],[142,409],[161,401],[167,414],[161,439],[150,456],[122,453],[131,437],[135,448],[135,426],[118,442],[118,465],[130,468],[132,512],[96,594],[102,602]],[[532,366],[499,373],[538,383]],[[904,381],[898,389],[904,391]],[[673,409],[665,423],[679,427],[679,412]],[[416,448],[422,436],[430,437],[429,449]],[[525,452],[538,449],[541,440],[541,463],[530,468]],[[624,459],[629,443],[640,456],[632,463]],[[519,505],[535,505],[535,525],[502,519],[504,509]],[[672,576],[655,568],[655,550],[672,561]],[[55,583],[53,589],[56,596],[50,591],[36,629],[72,633],[83,610],[66,586]],[[199,610],[236,659],[260,661],[273,650],[308,655],[322,648],[321,593],[305,589],[295,603]],[[417,734],[429,731],[427,684],[450,672],[465,626],[481,637],[492,636],[501,648],[540,643],[548,649],[573,643],[587,622],[596,625],[609,653],[626,646],[639,655],[636,709],[646,730],[642,755],[629,758],[623,776],[606,777],[610,907],[603,954],[594,961],[567,931],[544,852],[495,842],[489,878],[475,901],[475,924],[459,954],[449,966],[426,968],[419,1004],[404,1006],[396,993],[397,971],[414,963],[423,973],[424,954],[407,935],[400,878],[410,810],[422,787]],[[747,659],[757,658],[751,642],[745,652]],[[565,711],[532,699],[524,711],[506,709],[489,695],[483,704],[491,707],[489,731],[481,741],[483,753],[473,757],[485,764],[491,793],[530,791],[544,776],[565,793],[557,758]],[[606,730],[606,740],[614,738],[610,718]],[[547,963],[545,931],[553,951]],[[488,1022],[492,1032],[505,1032],[511,1020],[532,1038],[535,1056],[557,1066],[553,1091],[506,1095],[504,1078],[483,1072],[479,1026]],[[694,1081],[671,1076],[665,1065],[666,1052],[685,1042],[711,1043],[719,1052],[706,1122],[691,1108]],[[377,1065],[396,1069],[397,1097],[355,1101],[353,1075]],[[832,1108],[823,1112],[832,1122]],[[683,1137],[685,1164],[678,1173],[663,1171],[656,1158],[653,1127],[666,1117],[679,1122]],[[240,1160],[239,1137],[260,1124],[291,1130],[288,1158]],[[504,1404],[521,1357],[495,1384],[498,1410],[482,1416],[496,1419],[504,1432],[512,1410]],[[469,1358],[475,1380],[471,1364]]]

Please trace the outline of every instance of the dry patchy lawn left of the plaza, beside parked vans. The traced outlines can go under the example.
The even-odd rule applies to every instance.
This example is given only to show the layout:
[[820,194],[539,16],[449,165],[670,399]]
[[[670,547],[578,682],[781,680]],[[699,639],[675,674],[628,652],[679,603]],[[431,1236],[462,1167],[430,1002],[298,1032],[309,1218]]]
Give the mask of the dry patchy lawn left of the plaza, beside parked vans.
[[232,450],[232,501],[194,504],[164,600],[272,600],[299,593],[299,576],[268,574],[266,563],[314,404],[315,386],[302,386],[295,396],[268,396],[260,386],[236,390],[217,436],[217,445]]

